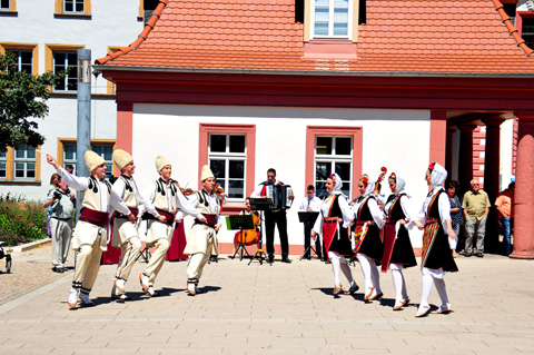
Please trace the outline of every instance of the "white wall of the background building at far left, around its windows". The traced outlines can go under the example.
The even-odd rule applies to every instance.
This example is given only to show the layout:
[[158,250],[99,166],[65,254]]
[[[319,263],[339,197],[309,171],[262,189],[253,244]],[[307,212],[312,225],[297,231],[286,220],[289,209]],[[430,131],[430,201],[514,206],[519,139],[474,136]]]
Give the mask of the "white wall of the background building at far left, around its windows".
[[[17,16],[0,17],[0,45],[10,48],[13,43],[38,46],[39,73],[46,71],[46,45],[80,46],[91,50],[92,60],[107,55],[108,47],[127,47],[142,29],[138,20],[141,0],[91,0],[91,16],[57,17],[55,0],[17,1]],[[117,16],[120,14],[120,16]],[[101,76],[91,77],[91,139],[116,139],[117,105],[115,95],[108,95],[108,81]],[[48,100],[49,115],[39,119],[39,131],[46,137],[43,151],[57,154],[58,138],[76,139],[76,91],[52,95]],[[2,194],[10,191],[29,199],[43,199],[53,168],[41,155],[41,184],[17,185],[0,181]]]

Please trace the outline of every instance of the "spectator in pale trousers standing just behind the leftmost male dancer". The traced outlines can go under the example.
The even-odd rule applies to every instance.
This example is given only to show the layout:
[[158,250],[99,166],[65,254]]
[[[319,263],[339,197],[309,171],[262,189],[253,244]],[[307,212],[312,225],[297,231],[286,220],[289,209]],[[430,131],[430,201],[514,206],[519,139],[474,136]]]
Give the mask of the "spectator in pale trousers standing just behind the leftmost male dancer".
[[63,191],[59,187],[48,194],[47,201],[56,200],[50,205],[50,230],[52,238],[52,265],[58,273],[63,272],[65,262],[69,255],[70,239],[72,238],[72,215],[76,199],[70,197],[70,190]]

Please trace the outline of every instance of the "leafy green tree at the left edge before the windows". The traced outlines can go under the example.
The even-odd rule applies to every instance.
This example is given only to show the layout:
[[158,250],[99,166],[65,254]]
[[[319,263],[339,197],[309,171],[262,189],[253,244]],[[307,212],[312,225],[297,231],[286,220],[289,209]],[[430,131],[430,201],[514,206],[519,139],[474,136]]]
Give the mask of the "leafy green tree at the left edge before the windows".
[[40,76],[18,71],[14,56],[0,55],[0,151],[18,144],[37,147],[44,142],[44,137],[37,131],[36,119],[48,115],[46,101],[51,87],[63,76],[50,71]]

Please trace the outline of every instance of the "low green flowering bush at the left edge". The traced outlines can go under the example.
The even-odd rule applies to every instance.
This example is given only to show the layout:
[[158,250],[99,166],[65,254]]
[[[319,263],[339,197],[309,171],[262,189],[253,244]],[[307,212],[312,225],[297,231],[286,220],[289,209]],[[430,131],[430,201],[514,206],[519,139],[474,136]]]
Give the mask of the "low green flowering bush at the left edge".
[[40,201],[0,195],[0,240],[14,246],[47,237],[47,214]]

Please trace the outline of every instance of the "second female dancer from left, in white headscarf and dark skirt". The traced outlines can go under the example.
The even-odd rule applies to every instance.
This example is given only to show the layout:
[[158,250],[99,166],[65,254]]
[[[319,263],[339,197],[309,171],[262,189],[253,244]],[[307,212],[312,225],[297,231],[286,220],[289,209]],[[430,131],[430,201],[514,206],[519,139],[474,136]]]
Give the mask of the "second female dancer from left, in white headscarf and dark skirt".
[[376,263],[380,263],[384,255],[384,245],[380,240],[380,229],[384,228],[384,224],[382,223],[382,210],[376,201],[375,185],[376,183],[369,184],[367,176],[363,176],[358,181],[362,196],[357,198],[356,205],[353,207],[356,228],[362,228],[364,225],[367,228],[367,233],[355,250],[364,274],[365,300],[378,299],[384,295],[380,289],[380,276],[376,267]]

